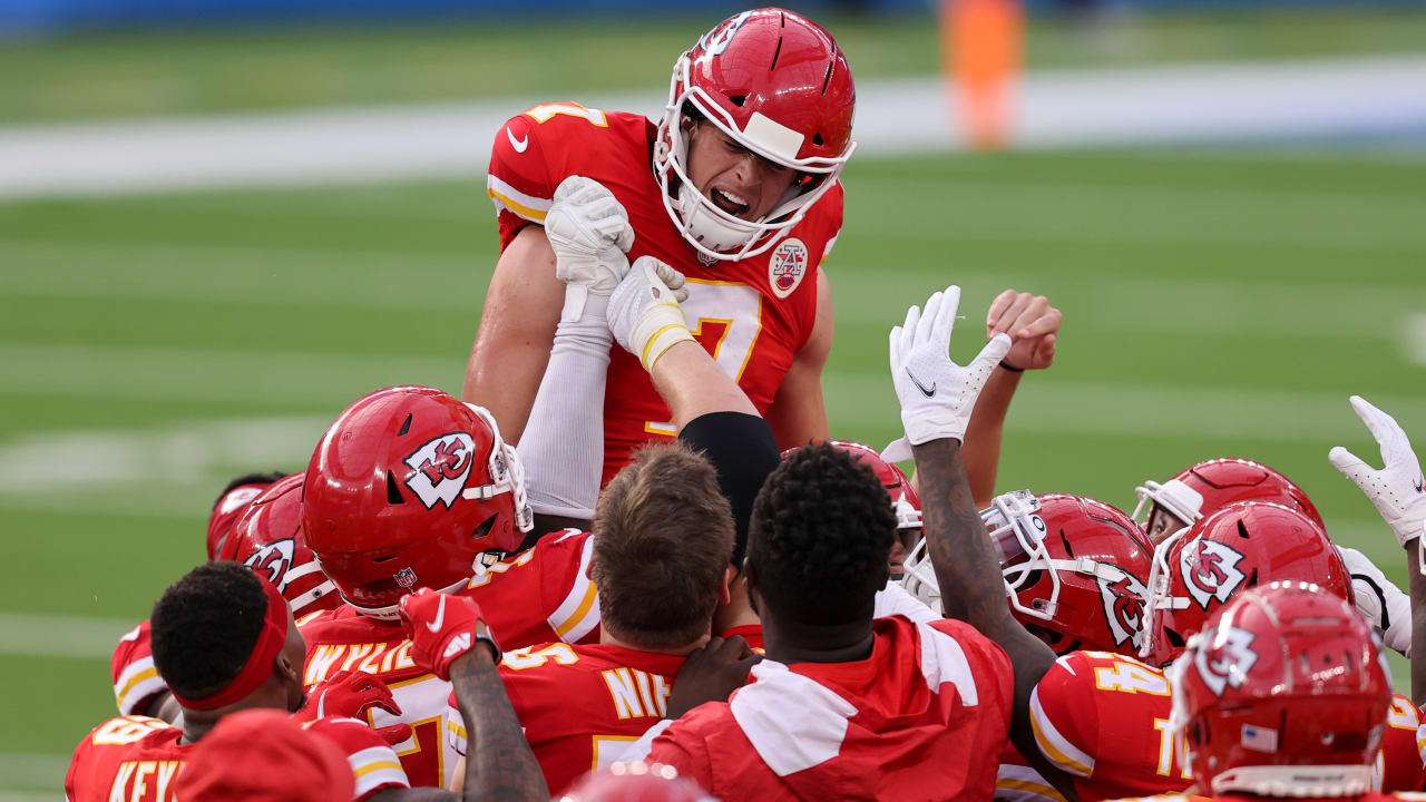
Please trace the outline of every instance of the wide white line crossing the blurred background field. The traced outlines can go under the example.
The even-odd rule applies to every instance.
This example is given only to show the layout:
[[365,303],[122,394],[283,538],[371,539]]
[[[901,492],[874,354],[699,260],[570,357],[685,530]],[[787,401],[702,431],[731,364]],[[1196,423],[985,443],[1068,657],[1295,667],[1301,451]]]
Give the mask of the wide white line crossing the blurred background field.
[[[1020,81],[1030,147],[1242,141],[1426,128],[1426,59],[1058,70]],[[863,157],[960,147],[937,77],[858,86]],[[0,197],[476,176],[520,108],[548,98],[0,130]],[[659,93],[583,97],[655,113]]]

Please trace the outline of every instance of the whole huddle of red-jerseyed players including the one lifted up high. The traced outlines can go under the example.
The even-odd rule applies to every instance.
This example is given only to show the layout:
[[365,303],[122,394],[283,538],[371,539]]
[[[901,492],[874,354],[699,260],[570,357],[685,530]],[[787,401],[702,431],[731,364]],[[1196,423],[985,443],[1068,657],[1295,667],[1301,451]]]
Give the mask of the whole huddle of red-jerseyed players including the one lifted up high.
[[680,56],[659,124],[512,118],[465,401],[378,390],[305,471],[224,489],[210,562],[114,652],[70,802],[1419,791],[1383,648],[1423,621],[1426,492],[1365,400],[1385,467],[1330,460],[1413,597],[1248,460],[1132,515],[994,495],[1010,397],[1055,352],[1030,294],[965,365],[960,290],[911,307],[906,437],[829,438],[853,104],[831,37],[761,9]]

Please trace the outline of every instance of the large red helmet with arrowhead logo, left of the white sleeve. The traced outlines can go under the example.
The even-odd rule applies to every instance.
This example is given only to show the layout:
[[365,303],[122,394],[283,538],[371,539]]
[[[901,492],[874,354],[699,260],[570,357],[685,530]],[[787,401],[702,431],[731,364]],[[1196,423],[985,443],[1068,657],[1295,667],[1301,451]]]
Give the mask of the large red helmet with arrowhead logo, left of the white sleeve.
[[302,495],[322,569],[378,618],[395,618],[416,588],[453,589],[533,525],[525,469],[495,418],[429,387],[389,387],[348,407],[317,444]]

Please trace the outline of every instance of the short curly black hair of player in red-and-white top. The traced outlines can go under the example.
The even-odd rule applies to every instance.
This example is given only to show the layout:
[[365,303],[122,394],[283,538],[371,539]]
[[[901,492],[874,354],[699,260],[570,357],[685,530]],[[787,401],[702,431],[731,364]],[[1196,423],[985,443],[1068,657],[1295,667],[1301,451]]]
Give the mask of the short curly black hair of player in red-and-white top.
[[871,468],[827,442],[799,448],[753,502],[747,561],[766,606],[801,624],[871,618],[896,539]]

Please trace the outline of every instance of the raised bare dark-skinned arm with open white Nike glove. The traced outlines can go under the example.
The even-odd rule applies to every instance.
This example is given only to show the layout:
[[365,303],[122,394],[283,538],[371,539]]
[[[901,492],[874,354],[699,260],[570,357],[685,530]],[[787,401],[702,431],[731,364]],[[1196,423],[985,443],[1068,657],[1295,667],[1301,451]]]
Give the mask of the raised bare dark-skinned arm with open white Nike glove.
[[1030,695],[1055,655],[1010,614],[1000,561],[985,537],[961,458],[971,410],[1010,350],[997,334],[968,365],[950,358],[960,287],[931,295],[925,313],[911,307],[891,330],[891,377],[901,422],[921,478],[921,522],[944,611],[975,626],[1010,656],[1015,672],[1011,736],[1021,755],[1038,756],[1030,728]]

